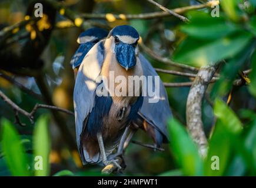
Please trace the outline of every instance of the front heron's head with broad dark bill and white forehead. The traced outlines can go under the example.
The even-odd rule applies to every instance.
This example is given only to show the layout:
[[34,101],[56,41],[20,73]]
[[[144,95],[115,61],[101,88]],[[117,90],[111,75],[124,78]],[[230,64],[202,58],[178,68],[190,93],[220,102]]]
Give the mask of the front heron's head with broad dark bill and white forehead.
[[126,70],[136,65],[139,33],[129,25],[120,25],[109,32],[117,62]]

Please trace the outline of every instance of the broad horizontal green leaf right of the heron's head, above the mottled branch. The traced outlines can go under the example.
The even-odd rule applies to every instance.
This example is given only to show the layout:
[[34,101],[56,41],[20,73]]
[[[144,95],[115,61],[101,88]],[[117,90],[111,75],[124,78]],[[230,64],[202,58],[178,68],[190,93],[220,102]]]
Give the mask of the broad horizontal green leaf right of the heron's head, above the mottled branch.
[[231,58],[244,49],[251,39],[251,33],[247,32],[212,41],[188,37],[179,45],[173,59],[180,63],[201,67]]

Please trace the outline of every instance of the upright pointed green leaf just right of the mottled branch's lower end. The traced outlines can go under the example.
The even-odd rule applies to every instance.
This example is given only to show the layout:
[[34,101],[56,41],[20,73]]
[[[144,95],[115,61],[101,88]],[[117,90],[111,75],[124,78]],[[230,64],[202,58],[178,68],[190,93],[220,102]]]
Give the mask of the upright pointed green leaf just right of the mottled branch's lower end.
[[222,176],[224,174],[230,159],[231,144],[230,132],[223,125],[223,122],[217,120],[209,142],[207,159],[204,163],[205,176]]

